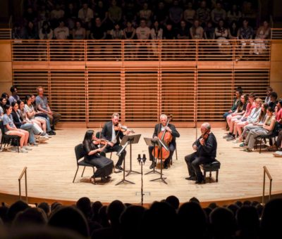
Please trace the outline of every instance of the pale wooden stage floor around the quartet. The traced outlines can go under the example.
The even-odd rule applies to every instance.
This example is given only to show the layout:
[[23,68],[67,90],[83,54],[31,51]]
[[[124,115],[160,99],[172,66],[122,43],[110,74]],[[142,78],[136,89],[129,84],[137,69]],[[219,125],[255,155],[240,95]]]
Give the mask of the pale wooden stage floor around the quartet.
[[[133,169],[140,172],[137,163],[137,154],[146,154],[147,146],[144,137],[152,136],[153,129],[136,128],[135,134],[142,134],[140,143],[133,145]],[[29,153],[11,153],[4,151],[0,153],[0,193],[18,195],[18,176],[23,167],[27,167],[28,195],[36,198],[49,198],[52,200],[75,201],[83,196],[92,201],[111,202],[118,199],[123,202],[141,202],[141,175],[130,174],[126,179],[135,184],[123,183],[123,174],[112,174],[108,183],[97,183],[93,185],[89,178],[92,169],[85,169],[85,175],[80,178],[82,167],[78,172],[75,183],[72,183],[75,174],[75,152],[74,147],[82,142],[86,129],[63,128],[56,131],[57,135],[41,143],[39,147],[33,147]],[[177,139],[178,160],[173,155],[173,165],[164,169],[167,177],[167,185],[161,181],[150,181],[156,179],[159,174],[143,175],[144,202],[151,203],[154,200],[162,200],[168,195],[176,195],[180,202],[185,202],[193,196],[202,202],[234,200],[238,198],[252,198],[262,195],[263,166],[269,169],[273,177],[272,191],[282,191],[282,159],[274,157],[272,153],[262,151],[245,153],[238,144],[226,142],[222,136],[225,131],[220,128],[212,129],[218,141],[217,159],[221,162],[219,171],[219,182],[197,185],[194,181],[187,181],[188,169],[184,157],[193,152],[192,143],[195,141],[195,129],[178,129],[180,138]],[[200,132],[200,130],[198,130]],[[127,148],[129,152],[129,147]],[[109,155],[109,154],[108,154]],[[113,153],[114,162],[117,160]],[[129,162],[129,153],[125,158]],[[145,163],[144,173],[149,172],[149,160]],[[128,167],[127,167],[128,168]],[[215,173],[212,175],[215,178]],[[269,181],[266,181],[266,186]],[[24,190],[24,181],[22,182]],[[267,193],[266,189],[266,193]]]

